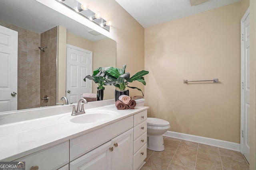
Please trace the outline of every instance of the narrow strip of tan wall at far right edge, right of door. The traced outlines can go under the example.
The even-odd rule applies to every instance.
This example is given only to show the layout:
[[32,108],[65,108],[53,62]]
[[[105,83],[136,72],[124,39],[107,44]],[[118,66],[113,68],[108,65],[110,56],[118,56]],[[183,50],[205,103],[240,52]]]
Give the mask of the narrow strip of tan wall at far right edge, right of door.
[[250,0],[250,170],[256,170],[256,1]]

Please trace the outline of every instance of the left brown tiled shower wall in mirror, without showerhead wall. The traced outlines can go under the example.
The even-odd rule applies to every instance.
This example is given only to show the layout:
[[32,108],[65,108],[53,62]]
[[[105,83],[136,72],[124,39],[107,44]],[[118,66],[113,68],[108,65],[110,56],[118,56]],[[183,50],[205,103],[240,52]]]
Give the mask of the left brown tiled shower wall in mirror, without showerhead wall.
[[18,31],[18,109],[40,106],[40,34],[0,21]]

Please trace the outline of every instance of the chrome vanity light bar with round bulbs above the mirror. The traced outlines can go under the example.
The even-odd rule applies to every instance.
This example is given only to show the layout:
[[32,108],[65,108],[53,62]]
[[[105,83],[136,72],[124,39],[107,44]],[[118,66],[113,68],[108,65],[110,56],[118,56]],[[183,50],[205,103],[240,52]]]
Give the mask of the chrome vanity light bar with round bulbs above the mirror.
[[92,12],[88,8],[88,4],[84,3],[81,4],[80,2],[76,0],[56,0],[60,4],[70,8],[74,12],[80,14],[84,18],[92,21],[93,23],[96,23],[97,25],[101,26],[102,28],[106,29],[107,31],[110,30],[110,25],[112,22],[110,20],[106,21],[102,18],[100,12]]

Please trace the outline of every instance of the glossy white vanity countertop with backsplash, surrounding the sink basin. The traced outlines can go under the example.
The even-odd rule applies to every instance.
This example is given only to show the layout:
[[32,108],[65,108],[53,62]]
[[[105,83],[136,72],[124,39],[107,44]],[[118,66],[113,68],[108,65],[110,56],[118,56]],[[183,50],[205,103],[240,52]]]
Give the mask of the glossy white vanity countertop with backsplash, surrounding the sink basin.
[[[118,110],[114,104],[85,108],[85,111],[116,111],[117,113],[97,123],[72,123],[72,107],[61,106],[0,115],[0,161],[13,161],[28,154],[52,147],[82,134],[99,129],[148,107]],[[85,113],[86,114],[86,113]],[[26,119],[26,116],[29,119]],[[76,115],[81,116],[81,115]],[[31,118],[32,117],[32,118]],[[13,123],[10,119],[15,119]],[[18,121],[20,119],[21,121]]]

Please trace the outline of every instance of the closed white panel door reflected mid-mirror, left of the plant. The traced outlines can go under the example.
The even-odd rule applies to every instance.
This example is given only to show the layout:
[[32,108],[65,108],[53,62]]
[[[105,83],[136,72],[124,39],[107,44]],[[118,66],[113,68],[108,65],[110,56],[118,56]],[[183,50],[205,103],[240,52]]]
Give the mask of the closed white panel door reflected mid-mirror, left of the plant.
[[67,44],[66,98],[78,102],[83,93],[92,93],[92,81],[84,77],[92,75],[92,51]]

